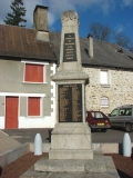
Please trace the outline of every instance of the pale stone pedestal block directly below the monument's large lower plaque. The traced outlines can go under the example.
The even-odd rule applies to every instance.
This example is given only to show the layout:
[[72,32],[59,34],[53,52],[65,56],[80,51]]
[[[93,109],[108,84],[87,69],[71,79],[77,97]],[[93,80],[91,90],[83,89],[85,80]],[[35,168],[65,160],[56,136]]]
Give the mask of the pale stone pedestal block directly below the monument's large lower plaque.
[[93,159],[88,123],[57,123],[52,131],[49,159]]

